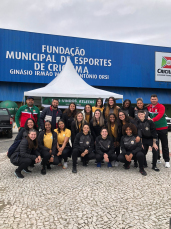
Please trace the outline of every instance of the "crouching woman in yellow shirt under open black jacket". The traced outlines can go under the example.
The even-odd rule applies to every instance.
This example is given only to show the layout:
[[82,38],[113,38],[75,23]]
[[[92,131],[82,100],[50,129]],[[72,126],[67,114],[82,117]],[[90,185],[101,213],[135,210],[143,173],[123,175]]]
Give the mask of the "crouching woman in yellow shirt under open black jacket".
[[39,134],[38,144],[43,158],[41,174],[46,175],[46,166],[47,169],[51,169],[50,163],[59,164],[59,158],[57,157],[57,134],[52,130],[51,122],[48,120],[44,123],[44,131],[41,131]]

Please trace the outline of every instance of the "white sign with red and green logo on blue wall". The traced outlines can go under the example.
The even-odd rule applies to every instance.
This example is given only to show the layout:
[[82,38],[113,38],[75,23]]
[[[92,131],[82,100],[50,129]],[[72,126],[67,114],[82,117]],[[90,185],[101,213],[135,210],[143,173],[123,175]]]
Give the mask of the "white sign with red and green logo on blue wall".
[[171,82],[171,53],[155,53],[155,80]]

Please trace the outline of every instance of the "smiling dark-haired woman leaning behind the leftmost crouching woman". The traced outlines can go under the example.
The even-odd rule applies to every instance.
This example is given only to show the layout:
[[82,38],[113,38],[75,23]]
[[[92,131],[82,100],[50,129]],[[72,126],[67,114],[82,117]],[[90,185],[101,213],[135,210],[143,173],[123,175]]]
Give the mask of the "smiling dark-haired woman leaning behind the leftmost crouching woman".
[[37,126],[35,124],[35,121],[32,118],[28,118],[25,122],[24,128],[21,128],[21,130],[18,132],[14,143],[10,146],[10,148],[8,149],[7,155],[10,158],[10,156],[12,155],[12,153],[14,153],[14,151],[17,149],[18,145],[20,144],[21,140],[23,138],[26,138],[29,130],[34,129],[37,131],[37,136],[39,134],[38,130],[37,130]]

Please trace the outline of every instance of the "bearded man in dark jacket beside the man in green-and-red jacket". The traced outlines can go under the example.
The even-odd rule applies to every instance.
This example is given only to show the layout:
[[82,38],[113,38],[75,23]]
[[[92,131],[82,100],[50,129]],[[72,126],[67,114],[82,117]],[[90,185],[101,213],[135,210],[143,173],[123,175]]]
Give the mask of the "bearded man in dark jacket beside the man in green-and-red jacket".
[[45,108],[40,116],[40,126],[44,130],[44,122],[50,121],[52,124],[52,130],[58,127],[58,120],[62,117],[62,111],[58,108],[59,101],[54,99],[50,107]]

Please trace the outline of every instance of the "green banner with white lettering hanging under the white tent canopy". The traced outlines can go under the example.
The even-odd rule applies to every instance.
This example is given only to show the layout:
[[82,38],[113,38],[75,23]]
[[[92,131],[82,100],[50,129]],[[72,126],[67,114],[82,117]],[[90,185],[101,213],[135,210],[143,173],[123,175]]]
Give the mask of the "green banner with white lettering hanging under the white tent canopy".
[[[42,104],[51,105],[52,101],[55,98],[42,98]],[[86,104],[90,104],[91,106],[95,106],[96,99],[82,99],[82,98],[56,98],[59,101],[60,106],[69,106],[70,103],[75,103],[78,107],[84,107]]]

